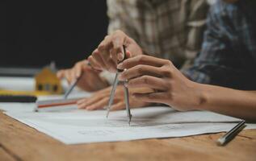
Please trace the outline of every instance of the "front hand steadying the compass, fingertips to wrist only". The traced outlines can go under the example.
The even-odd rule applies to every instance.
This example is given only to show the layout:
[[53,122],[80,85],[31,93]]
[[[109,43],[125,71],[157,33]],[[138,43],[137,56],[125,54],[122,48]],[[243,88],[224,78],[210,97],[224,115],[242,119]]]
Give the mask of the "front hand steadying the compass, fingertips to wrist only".
[[120,81],[128,80],[128,88],[144,87],[153,93],[133,93],[136,100],[170,105],[178,110],[190,110],[199,105],[199,91],[183,76],[170,60],[153,56],[136,56],[118,65],[124,70]]

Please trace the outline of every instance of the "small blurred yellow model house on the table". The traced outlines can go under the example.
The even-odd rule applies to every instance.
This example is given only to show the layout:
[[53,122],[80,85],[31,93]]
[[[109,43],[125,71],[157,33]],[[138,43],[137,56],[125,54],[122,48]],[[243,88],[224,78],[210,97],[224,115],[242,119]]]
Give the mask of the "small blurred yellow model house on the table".
[[36,74],[35,80],[36,91],[48,92],[49,94],[61,94],[63,92],[61,81],[57,78],[56,73],[48,67]]

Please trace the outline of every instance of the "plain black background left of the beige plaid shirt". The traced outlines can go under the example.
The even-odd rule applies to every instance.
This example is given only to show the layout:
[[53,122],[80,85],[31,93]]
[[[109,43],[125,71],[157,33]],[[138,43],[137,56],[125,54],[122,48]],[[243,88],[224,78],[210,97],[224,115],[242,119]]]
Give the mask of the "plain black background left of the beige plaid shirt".
[[0,10],[0,67],[69,68],[107,34],[104,0],[1,1]]

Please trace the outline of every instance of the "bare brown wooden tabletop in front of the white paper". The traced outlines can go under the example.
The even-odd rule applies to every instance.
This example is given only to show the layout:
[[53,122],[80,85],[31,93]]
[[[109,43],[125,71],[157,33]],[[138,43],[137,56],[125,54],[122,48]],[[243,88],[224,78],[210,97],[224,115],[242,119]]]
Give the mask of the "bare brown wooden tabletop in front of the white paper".
[[65,145],[0,111],[0,161],[13,160],[254,160],[256,130],[243,130],[225,147],[220,134]]

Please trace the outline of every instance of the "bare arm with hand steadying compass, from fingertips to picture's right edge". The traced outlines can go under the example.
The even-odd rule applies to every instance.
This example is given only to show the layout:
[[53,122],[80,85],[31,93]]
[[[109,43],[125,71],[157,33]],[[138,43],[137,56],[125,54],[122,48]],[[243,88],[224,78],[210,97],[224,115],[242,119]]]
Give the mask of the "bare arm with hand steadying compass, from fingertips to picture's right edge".
[[120,80],[128,80],[129,88],[152,89],[152,93],[134,93],[133,96],[138,100],[163,103],[181,111],[208,110],[256,120],[256,91],[241,91],[190,81],[170,60],[152,56],[129,58],[119,64],[118,68],[127,68],[120,74]]

